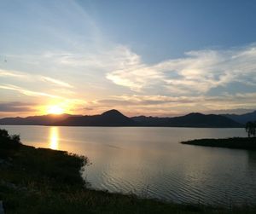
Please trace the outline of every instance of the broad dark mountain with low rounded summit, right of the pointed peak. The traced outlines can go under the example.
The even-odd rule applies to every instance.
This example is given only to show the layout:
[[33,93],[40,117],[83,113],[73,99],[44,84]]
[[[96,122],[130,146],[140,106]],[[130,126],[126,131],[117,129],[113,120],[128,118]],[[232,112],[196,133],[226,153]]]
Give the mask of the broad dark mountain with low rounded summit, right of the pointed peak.
[[212,128],[233,128],[242,127],[232,119],[221,115],[189,113],[185,116],[175,118],[157,118],[157,117],[133,117],[137,123],[143,126],[167,126],[167,127],[212,127]]

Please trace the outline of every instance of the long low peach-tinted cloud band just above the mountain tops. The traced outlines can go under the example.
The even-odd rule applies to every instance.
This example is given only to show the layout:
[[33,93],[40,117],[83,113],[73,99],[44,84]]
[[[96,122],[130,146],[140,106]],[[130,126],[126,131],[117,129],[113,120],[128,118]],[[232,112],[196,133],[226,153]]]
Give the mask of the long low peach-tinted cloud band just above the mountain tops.
[[[230,109],[255,109],[256,93],[235,95],[113,95],[87,103],[98,112],[111,108],[119,109],[127,115],[170,116],[184,113],[228,113]],[[239,113],[239,111],[235,111]],[[245,111],[244,111],[245,112]],[[249,112],[249,110],[247,111]]]

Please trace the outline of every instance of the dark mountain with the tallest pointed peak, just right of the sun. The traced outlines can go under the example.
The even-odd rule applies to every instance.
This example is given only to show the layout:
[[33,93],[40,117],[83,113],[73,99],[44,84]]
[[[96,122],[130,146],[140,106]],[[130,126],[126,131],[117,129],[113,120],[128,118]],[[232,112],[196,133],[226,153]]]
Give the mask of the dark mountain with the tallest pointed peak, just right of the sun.
[[62,121],[54,123],[54,125],[67,126],[136,126],[137,122],[119,113],[117,110],[110,110],[108,112],[93,115],[69,117]]

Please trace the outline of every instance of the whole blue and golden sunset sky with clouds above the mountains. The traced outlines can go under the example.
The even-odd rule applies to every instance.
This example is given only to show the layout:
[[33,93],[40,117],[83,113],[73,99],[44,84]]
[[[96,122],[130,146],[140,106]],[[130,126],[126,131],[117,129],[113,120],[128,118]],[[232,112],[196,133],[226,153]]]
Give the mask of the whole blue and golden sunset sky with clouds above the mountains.
[[0,0],[0,118],[256,109],[256,2]]

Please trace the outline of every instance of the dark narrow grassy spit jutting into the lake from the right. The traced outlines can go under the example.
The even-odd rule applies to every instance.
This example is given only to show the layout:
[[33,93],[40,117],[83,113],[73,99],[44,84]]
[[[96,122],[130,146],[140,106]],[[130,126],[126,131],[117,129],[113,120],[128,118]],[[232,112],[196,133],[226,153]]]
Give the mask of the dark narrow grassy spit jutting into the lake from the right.
[[205,147],[229,147],[256,150],[256,137],[232,137],[225,139],[197,139],[183,144],[205,146]]

